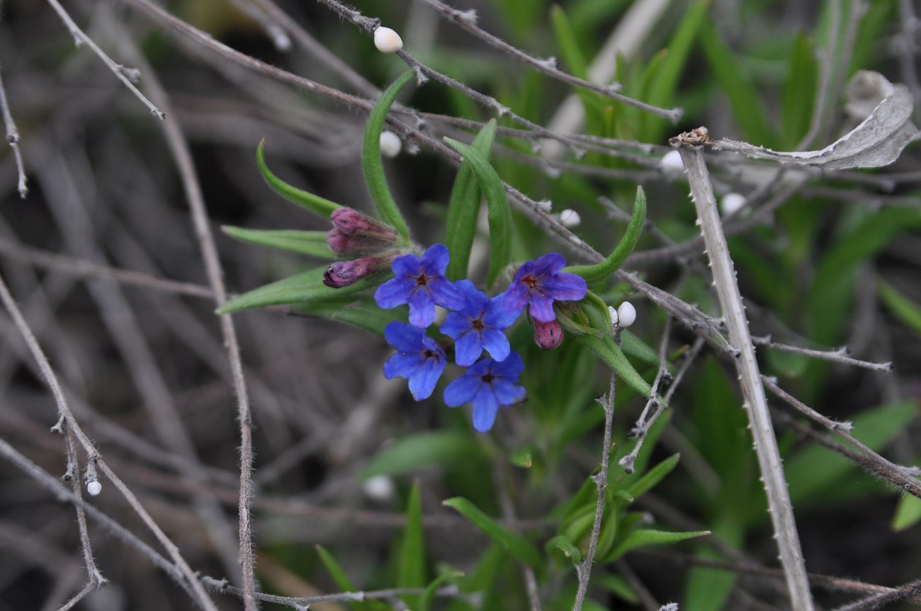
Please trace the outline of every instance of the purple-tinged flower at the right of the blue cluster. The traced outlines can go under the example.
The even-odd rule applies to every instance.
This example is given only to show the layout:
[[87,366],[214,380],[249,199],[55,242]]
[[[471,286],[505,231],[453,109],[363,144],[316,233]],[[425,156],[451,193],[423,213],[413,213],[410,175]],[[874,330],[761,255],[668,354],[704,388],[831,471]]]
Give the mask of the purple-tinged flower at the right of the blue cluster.
[[565,265],[562,255],[551,252],[519,267],[506,289],[503,307],[518,315],[529,305],[530,316],[535,320],[555,320],[554,301],[579,301],[587,290],[584,279],[561,272]]

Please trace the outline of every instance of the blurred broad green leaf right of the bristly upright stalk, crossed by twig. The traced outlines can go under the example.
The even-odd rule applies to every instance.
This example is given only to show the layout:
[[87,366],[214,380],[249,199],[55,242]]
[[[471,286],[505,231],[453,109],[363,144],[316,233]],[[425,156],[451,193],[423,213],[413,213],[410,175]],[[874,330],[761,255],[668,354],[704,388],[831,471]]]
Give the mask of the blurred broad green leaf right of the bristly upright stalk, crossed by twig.
[[[871,409],[854,419],[853,434],[871,450],[879,451],[889,444],[918,413],[914,401],[900,401]],[[848,444],[838,442],[845,447]],[[790,501],[793,505],[815,503],[827,497],[841,484],[857,465],[845,456],[832,452],[819,444],[809,444],[784,461]]]

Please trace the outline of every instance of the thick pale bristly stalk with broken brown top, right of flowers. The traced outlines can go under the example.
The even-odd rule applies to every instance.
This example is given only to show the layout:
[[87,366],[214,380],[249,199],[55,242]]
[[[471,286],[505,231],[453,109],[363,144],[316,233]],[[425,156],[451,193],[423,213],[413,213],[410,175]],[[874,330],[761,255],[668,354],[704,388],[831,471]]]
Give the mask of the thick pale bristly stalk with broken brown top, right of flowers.
[[799,546],[799,534],[787,491],[783,462],[774,435],[771,415],[767,409],[758,361],[754,355],[752,337],[749,333],[745,308],[739,291],[729,246],[723,234],[717,200],[713,194],[706,169],[702,144],[708,140],[705,129],[672,138],[671,144],[682,156],[691,186],[694,206],[704,234],[707,258],[713,270],[719,305],[729,330],[729,341],[738,351],[736,370],[740,376],[742,394],[745,397],[749,419],[752,424],[752,438],[758,463],[761,467],[764,490],[771,520],[780,551],[780,561],[787,577],[790,602],[794,611],[812,611],[812,596],[806,578],[806,566]]

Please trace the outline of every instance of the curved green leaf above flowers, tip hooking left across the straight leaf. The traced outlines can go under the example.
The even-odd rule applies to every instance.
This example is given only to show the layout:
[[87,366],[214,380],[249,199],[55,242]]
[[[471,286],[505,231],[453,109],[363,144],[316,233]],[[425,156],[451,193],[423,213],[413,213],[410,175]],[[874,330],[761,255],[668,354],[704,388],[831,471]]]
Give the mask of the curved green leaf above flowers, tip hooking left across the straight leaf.
[[479,151],[450,138],[445,138],[445,142],[470,164],[486,198],[489,208],[489,271],[486,283],[492,286],[511,260],[512,211],[508,207],[506,191],[502,188],[502,179]]

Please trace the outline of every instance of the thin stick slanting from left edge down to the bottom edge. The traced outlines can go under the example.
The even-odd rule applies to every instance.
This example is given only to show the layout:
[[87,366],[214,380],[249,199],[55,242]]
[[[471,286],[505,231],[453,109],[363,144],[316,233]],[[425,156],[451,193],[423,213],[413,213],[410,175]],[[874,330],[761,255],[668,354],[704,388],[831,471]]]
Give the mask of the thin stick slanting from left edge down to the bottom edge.
[[[80,445],[83,446],[84,451],[87,453],[87,460],[95,462],[99,470],[111,480],[115,488],[122,493],[125,501],[128,501],[134,509],[134,512],[138,514],[147,528],[157,537],[157,541],[160,545],[168,551],[169,557],[175,563],[176,567],[178,567],[181,577],[184,578],[189,587],[191,587],[192,591],[190,594],[192,594],[195,601],[207,611],[217,611],[215,604],[208,597],[208,594],[204,592],[204,588],[198,582],[188,562],[182,558],[179,548],[169,540],[169,537],[166,536],[150,514],[147,513],[141,502],[134,496],[134,492],[129,490],[128,487],[124,485],[124,482],[122,482],[122,479],[106,465],[92,442],[89,441],[86,433],[83,432],[80,425],[74,419],[74,414],[71,412],[70,406],[67,405],[67,400],[64,398],[61,385],[58,383],[57,375],[54,374],[51,363],[48,362],[48,357],[45,356],[45,353],[41,350],[41,345],[39,345],[39,341],[35,339],[32,330],[29,329],[29,324],[26,322],[25,317],[22,316],[22,312],[19,310],[16,300],[13,299],[13,295],[9,293],[9,289],[6,287],[6,282],[4,282],[2,276],[0,276],[0,300],[2,300],[6,306],[6,311],[9,313],[10,317],[13,318],[13,322],[19,330],[19,333],[22,335],[23,340],[26,341],[26,345],[29,346],[29,352],[32,353],[33,358],[39,364],[41,375],[45,378],[45,382],[47,382],[49,388],[51,388],[54,403],[57,406],[60,416],[60,420],[55,427],[63,430],[64,426],[66,426],[68,430],[74,433],[77,441],[79,441]],[[0,440],[0,443],[4,443],[3,440]],[[83,505],[81,504],[81,506]],[[86,510],[86,506],[84,506],[84,509]]]

